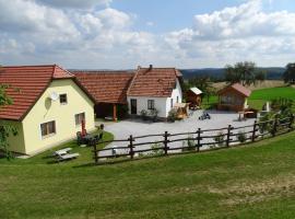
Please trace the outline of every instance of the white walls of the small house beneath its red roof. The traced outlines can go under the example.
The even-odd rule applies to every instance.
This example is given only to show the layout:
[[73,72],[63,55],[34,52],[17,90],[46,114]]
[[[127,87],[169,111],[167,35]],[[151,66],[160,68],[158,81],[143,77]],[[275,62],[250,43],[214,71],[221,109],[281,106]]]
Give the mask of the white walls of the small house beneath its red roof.
[[129,107],[129,114],[131,114],[131,99],[135,99],[138,102],[138,114],[140,115],[140,112],[142,110],[148,110],[148,100],[154,100],[155,101],[155,108],[158,111],[158,117],[164,117],[166,118],[168,116],[169,111],[172,110],[170,107],[170,100],[173,99],[174,104],[177,101],[178,96],[178,103],[182,102],[182,92],[181,92],[181,87],[180,83],[177,79],[176,82],[176,89],[173,90],[172,96],[170,97],[152,97],[152,96],[127,96],[128,101],[128,107]]

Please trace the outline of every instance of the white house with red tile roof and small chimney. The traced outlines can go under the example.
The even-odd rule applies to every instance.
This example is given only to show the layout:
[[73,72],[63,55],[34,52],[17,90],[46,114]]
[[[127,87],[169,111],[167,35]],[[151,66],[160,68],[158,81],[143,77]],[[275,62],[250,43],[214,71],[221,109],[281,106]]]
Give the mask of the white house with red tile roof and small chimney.
[[139,67],[127,91],[129,113],[157,110],[158,117],[166,118],[174,105],[182,102],[180,79],[175,68]]

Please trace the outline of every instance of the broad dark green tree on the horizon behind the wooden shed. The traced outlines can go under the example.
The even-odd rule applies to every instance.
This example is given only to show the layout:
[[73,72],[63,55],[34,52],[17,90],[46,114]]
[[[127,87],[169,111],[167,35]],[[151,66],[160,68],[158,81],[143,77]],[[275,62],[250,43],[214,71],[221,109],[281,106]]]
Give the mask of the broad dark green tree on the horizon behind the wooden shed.
[[264,81],[266,72],[259,70],[252,61],[237,62],[234,66],[225,66],[225,81],[228,83],[241,83],[243,85],[256,84]]

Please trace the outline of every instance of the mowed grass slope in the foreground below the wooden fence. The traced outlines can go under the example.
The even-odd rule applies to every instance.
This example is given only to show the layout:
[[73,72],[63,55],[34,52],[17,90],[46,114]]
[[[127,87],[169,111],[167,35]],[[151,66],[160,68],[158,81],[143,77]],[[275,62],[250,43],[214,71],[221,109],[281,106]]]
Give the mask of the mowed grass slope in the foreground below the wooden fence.
[[0,164],[0,218],[295,218],[295,135],[113,165]]

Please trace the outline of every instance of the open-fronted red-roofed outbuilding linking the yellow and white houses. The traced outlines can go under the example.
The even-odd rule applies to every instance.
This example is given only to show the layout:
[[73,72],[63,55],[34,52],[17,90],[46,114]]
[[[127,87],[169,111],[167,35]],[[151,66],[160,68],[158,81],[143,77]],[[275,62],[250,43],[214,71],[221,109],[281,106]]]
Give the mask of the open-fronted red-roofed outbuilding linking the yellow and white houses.
[[128,114],[127,90],[133,71],[72,71],[79,83],[95,99],[97,118],[117,120]]

